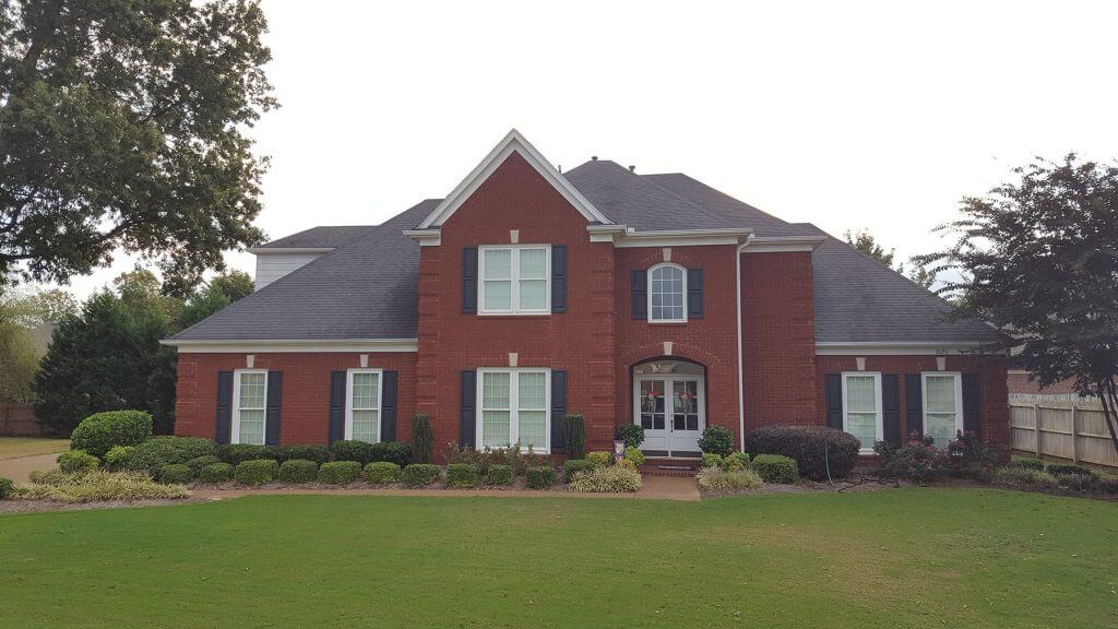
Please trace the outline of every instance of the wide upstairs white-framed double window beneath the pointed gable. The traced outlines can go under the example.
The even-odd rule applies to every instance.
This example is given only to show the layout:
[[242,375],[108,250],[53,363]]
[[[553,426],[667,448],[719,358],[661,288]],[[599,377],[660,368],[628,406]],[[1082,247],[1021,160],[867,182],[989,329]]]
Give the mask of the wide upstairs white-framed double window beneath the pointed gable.
[[477,247],[481,314],[551,311],[551,245]]

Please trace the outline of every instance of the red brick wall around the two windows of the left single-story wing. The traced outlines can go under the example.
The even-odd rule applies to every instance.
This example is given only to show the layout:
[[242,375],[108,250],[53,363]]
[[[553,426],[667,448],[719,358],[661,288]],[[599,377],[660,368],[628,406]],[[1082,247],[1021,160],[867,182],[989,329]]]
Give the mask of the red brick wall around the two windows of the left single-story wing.
[[[330,372],[361,366],[360,354],[256,354],[254,368],[283,372],[280,443],[326,443]],[[246,368],[244,354],[179,354],[174,434],[214,439],[217,373]],[[396,434],[408,440],[415,412],[416,355],[369,354],[369,367],[396,370]]]

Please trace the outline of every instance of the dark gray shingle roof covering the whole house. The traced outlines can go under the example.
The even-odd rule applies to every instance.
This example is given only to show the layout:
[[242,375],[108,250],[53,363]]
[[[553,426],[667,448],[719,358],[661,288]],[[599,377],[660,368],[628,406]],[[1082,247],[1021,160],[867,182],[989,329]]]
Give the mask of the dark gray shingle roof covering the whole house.
[[[610,220],[639,231],[749,227],[757,236],[826,235],[682,173],[639,176],[595,160],[565,176]],[[378,226],[316,227],[264,245],[337,248],[173,340],[415,338],[419,246],[401,231],[419,224],[438,203],[425,200]],[[818,342],[1001,338],[985,323],[948,320],[947,302],[834,237],[826,237],[812,261]]]

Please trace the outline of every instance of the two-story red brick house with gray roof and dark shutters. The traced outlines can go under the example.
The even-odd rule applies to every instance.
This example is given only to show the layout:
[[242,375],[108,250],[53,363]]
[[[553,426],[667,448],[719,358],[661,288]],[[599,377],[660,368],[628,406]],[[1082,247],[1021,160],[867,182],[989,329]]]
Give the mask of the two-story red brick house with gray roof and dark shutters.
[[257,291],[167,342],[176,433],[218,442],[521,443],[615,425],[694,457],[705,426],[1008,440],[991,327],[809,224],[684,175],[560,173],[509,133],[444,199],[253,250]]

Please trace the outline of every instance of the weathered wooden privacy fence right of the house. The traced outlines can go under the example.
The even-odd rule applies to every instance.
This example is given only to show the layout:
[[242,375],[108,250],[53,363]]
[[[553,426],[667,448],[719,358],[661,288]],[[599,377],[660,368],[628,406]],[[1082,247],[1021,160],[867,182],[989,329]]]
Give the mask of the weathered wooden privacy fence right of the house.
[[1014,450],[1118,467],[1098,401],[1010,400],[1010,429]]

